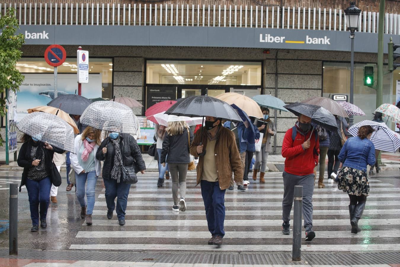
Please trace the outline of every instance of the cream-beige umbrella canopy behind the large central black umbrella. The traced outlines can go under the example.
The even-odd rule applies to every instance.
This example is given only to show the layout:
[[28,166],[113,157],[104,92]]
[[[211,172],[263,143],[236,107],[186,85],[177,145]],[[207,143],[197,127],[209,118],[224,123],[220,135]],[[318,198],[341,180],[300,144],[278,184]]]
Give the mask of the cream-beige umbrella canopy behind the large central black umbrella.
[[224,93],[216,96],[215,98],[225,101],[230,105],[235,104],[238,108],[246,112],[248,116],[253,116],[255,118],[262,117],[260,106],[256,101],[252,100],[248,96],[238,93]]

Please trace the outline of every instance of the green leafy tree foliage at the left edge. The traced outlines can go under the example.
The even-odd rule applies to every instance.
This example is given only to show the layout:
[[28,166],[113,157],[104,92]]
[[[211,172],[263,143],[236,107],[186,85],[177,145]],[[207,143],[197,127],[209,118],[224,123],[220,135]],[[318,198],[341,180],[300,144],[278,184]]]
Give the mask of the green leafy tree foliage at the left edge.
[[[23,34],[16,34],[18,20],[14,8],[8,8],[5,16],[0,17],[0,116],[6,116],[6,91],[11,89],[13,92],[19,90],[24,81],[24,75],[16,69],[16,62],[20,60],[22,44],[25,43]],[[0,145],[3,139],[0,135]]]

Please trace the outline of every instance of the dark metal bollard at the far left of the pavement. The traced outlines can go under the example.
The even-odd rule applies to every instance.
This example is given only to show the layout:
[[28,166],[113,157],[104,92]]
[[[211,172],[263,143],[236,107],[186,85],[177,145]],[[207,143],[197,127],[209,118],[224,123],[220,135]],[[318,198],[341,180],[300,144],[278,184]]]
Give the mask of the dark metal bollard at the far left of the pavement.
[[18,255],[18,185],[10,184],[10,255]]

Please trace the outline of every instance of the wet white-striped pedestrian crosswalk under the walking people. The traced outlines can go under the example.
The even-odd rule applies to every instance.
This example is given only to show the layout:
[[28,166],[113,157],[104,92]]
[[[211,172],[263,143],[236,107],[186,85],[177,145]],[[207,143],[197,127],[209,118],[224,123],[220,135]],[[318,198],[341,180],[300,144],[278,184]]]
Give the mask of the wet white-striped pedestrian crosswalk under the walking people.
[[[126,209],[126,225],[116,214],[106,217],[102,179],[98,181],[93,225],[82,221],[70,249],[157,251],[291,251],[292,234],[282,235],[282,173],[267,173],[266,183],[250,179],[246,191],[226,190],[224,245],[207,245],[208,232],[196,173],[187,178],[187,211],[172,211],[171,180],[157,188],[157,173],[140,175],[132,185]],[[370,179],[370,196],[359,221],[362,231],[350,233],[348,196],[336,184],[314,189],[313,229],[316,238],[304,241],[302,251],[398,251],[400,250],[400,188]],[[293,214],[293,211],[292,211]],[[291,221],[292,222],[292,221]],[[292,230],[293,225],[290,226]]]

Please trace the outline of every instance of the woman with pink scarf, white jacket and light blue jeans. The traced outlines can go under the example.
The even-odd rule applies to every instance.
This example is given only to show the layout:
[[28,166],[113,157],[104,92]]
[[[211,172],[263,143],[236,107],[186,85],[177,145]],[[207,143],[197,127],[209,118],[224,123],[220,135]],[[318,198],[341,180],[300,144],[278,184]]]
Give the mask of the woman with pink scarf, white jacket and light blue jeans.
[[101,170],[100,161],[96,159],[100,144],[100,130],[87,126],[81,135],[75,137],[74,154],[70,154],[71,165],[75,171],[76,197],[81,207],[80,217],[86,218],[86,225],[92,225],[94,193]]

